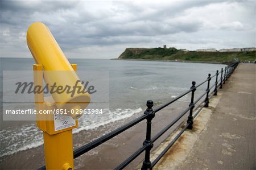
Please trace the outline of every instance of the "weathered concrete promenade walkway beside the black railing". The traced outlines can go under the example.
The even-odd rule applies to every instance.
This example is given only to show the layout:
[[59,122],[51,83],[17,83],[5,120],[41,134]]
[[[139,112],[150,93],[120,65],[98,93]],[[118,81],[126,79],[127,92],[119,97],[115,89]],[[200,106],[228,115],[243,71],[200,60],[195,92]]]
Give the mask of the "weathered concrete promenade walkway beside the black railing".
[[238,65],[154,169],[256,169],[255,77],[255,64]]

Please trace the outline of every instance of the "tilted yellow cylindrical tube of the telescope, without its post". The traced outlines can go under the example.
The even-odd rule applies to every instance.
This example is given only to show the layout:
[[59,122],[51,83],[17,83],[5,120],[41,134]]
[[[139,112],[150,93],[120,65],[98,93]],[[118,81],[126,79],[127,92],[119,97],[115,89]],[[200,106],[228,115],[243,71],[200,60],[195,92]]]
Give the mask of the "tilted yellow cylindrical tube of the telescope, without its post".
[[[72,109],[85,109],[90,102],[90,94],[81,93],[84,85],[43,23],[31,24],[27,31],[27,44],[36,64],[43,65],[44,81],[49,88],[56,88],[50,93],[57,108],[70,112]],[[80,116],[72,115],[73,118]]]

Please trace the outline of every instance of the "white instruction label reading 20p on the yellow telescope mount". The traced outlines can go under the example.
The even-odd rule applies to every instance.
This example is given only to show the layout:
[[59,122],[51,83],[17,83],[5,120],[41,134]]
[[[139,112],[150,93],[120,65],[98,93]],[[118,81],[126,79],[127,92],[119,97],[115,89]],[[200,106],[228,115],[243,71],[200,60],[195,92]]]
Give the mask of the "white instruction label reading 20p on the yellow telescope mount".
[[54,115],[54,130],[63,130],[65,128],[69,128],[72,126],[76,126],[76,120],[71,116],[63,115],[63,114],[55,114]]

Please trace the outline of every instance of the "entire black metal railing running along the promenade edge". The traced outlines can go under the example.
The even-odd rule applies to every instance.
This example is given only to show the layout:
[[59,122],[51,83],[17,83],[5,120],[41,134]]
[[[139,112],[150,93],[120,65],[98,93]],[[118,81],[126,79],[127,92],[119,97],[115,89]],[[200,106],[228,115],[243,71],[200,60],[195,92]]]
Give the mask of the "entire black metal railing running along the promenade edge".
[[[112,132],[109,132],[108,134],[101,136],[100,138],[93,140],[92,142],[90,142],[88,144],[85,144],[85,146],[77,148],[73,152],[74,159],[76,159],[76,157],[79,157],[80,155],[85,154],[86,152],[92,150],[93,148],[100,146],[100,144],[108,141],[109,139],[112,139],[114,136],[121,134],[123,131],[129,129],[130,127],[137,125],[139,122],[143,121],[144,119],[147,119],[146,139],[144,140],[142,147],[140,147],[137,151],[135,151],[132,155],[130,155],[126,160],[124,160],[121,164],[119,164],[115,169],[125,168],[126,165],[128,165],[136,157],[141,155],[143,151],[145,151],[145,156],[144,156],[144,161],[143,161],[141,169],[152,169],[152,167],[154,167],[154,165],[156,163],[158,163],[158,161],[163,157],[163,155],[166,154],[166,152],[172,147],[172,145],[176,142],[176,140],[179,139],[181,134],[183,134],[183,132],[187,128],[189,128],[189,129],[193,128],[193,119],[195,119],[195,117],[200,113],[200,111],[201,111],[201,109],[203,109],[203,107],[209,106],[209,99],[212,98],[213,96],[217,95],[218,89],[222,88],[222,84],[225,84],[225,82],[228,80],[230,75],[237,68],[238,64],[239,64],[238,62],[230,64],[227,67],[225,67],[225,69],[222,68],[220,73],[218,71],[216,71],[216,74],[214,74],[213,76],[211,76],[211,74],[208,74],[207,80],[201,82],[199,85],[196,85],[196,82],[192,81],[192,86],[189,90],[187,90],[186,92],[180,94],[179,96],[171,99],[170,101],[164,103],[163,105],[156,107],[155,109],[152,108],[154,106],[154,102],[151,100],[148,100],[147,101],[147,109],[146,109],[146,111],[144,111],[144,114],[141,117],[138,117],[138,118],[134,119],[133,121],[130,121],[126,125],[123,125],[117,129],[113,130]],[[220,78],[218,78],[219,74],[221,74]],[[210,86],[210,80],[212,80],[212,78],[214,78],[214,77],[216,77],[216,80],[215,80],[214,84],[212,86]],[[205,84],[206,82],[207,82],[207,89],[205,90],[205,92],[203,94],[201,94],[200,97],[195,99],[196,89],[199,88],[199,86]],[[211,92],[211,90],[213,88],[214,88],[214,90]],[[155,114],[158,111],[164,109],[164,107],[167,107],[171,103],[174,103],[175,101],[177,101],[178,99],[180,99],[181,97],[184,97],[185,95],[187,95],[189,93],[191,93],[191,102],[189,103],[189,106],[187,107],[187,109],[181,111],[181,113],[179,113],[179,115],[172,122],[170,122],[166,127],[164,127],[161,131],[159,131],[158,134],[156,134],[154,137],[151,138],[151,121],[155,117]],[[198,103],[201,99],[203,99],[203,97],[205,95],[206,95],[206,97],[205,97],[204,101],[197,107],[196,112],[193,113],[196,103]],[[168,129],[170,129],[173,125],[175,125],[175,123],[177,121],[179,121],[186,113],[188,113],[188,111],[189,111],[189,115],[188,115],[188,119],[187,119],[187,124],[180,130],[179,134],[177,134],[175,136],[175,138],[171,141],[170,144],[168,144],[168,146],[161,152],[161,154],[159,154],[159,156],[156,157],[156,159],[154,161],[152,161],[152,163],[151,163],[150,151],[151,151],[151,148],[153,147],[154,142],[156,140],[158,140],[160,138],[160,136],[162,136]],[[45,168],[46,167],[44,166],[39,169],[45,169]]]

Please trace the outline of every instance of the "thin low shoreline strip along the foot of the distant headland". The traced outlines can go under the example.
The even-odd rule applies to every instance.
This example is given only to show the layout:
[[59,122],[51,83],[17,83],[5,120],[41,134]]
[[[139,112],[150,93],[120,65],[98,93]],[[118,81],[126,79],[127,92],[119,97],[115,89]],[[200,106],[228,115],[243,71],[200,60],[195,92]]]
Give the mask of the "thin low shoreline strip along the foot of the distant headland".
[[203,64],[226,64],[217,61],[175,61],[175,60],[148,60],[148,59],[110,59],[110,60],[127,60],[127,61],[163,61],[174,63],[203,63]]

